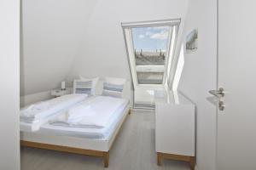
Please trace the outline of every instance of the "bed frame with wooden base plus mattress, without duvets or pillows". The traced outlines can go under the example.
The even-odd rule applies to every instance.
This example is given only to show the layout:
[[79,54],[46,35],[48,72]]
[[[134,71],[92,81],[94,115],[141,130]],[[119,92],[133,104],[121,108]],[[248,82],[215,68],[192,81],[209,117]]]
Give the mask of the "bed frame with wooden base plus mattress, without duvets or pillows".
[[[97,98],[102,97],[89,97],[84,99],[84,103],[90,101],[94,105],[100,105],[99,102],[93,101]],[[109,97],[106,98],[110,99]],[[23,125],[20,125],[20,145],[87,156],[99,156],[103,158],[104,167],[108,167],[109,150],[119,133],[119,129],[125,122],[125,117],[130,114],[129,99],[123,100],[125,102],[114,110],[112,120],[108,121],[108,126],[102,128],[55,126],[45,122],[40,125],[37,131],[32,132],[29,130],[30,124],[23,123]],[[55,116],[51,118],[54,119]]]

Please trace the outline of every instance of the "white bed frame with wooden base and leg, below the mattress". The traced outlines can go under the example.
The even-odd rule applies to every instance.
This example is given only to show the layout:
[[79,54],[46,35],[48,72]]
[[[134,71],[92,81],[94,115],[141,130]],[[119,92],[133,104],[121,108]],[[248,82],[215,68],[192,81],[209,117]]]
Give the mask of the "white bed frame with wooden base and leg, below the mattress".
[[128,105],[125,108],[124,116],[108,139],[83,139],[63,135],[20,132],[20,146],[102,157],[104,167],[108,167],[109,150],[125,122],[126,116],[130,114],[130,105]]

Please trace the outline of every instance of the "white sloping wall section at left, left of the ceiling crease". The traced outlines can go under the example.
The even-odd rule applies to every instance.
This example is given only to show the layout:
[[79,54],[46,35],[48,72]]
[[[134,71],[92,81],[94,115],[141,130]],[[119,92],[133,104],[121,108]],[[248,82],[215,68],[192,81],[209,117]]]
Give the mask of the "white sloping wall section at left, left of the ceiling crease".
[[20,95],[59,88],[96,0],[22,0]]

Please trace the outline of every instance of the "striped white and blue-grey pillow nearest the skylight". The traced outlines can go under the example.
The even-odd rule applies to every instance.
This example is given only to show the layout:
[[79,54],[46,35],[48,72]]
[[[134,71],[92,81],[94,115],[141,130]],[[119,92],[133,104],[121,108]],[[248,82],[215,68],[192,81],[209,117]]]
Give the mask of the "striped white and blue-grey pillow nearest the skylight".
[[102,95],[121,98],[125,82],[124,78],[106,77],[103,82]]

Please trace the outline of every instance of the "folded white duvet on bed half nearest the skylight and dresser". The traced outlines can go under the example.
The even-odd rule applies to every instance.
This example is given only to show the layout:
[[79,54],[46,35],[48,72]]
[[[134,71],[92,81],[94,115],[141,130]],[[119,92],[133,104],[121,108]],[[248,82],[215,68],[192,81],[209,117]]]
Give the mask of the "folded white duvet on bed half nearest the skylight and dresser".
[[125,101],[125,99],[108,96],[96,96],[90,101],[81,102],[79,105],[64,111],[49,120],[49,123],[66,127],[106,127],[115,111]]

